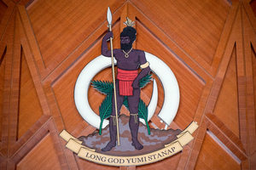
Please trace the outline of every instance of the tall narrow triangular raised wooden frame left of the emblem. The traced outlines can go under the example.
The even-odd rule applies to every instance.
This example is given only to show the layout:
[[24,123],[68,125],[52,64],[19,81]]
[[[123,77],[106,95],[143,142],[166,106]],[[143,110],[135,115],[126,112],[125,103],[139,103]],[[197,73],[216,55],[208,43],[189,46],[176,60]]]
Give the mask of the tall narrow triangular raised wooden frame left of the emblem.
[[[22,26],[20,25],[20,17],[18,12],[16,13],[15,17],[15,45],[17,48],[15,48],[15,61],[14,61],[14,71],[13,71],[13,88],[12,88],[12,112],[10,117],[10,123],[12,126],[10,127],[10,146],[9,148],[9,155],[15,154],[16,150],[19,150],[20,147],[26,143],[26,140],[30,139],[32,135],[38,131],[38,129],[49,119],[49,107],[47,105],[47,101],[44,96],[44,89],[42,87],[42,84],[38,78],[38,72],[36,71],[36,68],[34,66],[33,60],[31,59],[31,53],[28,49],[28,45],[26,42],[26,38],[22,29]],[[26,133],[24,136],[22,136],[17,142],[17,119],[18,119],[18,107],[19,107],[19,90],[20,90],[20,37],[21,37],[21,43],[23,44],[23,49],[26,55],[26,61],[28,63],[30,72],[32,74],[32,79],[35,85],[35,88],[38,93],[38,99],[40,100],[40,104],[42,106],[42,110],[44,111],[44,116],[42,116],[38,122],[36,122]],[[19,47],[19,48],[18,48]],[[18,92],[16,92],[18,91]]]

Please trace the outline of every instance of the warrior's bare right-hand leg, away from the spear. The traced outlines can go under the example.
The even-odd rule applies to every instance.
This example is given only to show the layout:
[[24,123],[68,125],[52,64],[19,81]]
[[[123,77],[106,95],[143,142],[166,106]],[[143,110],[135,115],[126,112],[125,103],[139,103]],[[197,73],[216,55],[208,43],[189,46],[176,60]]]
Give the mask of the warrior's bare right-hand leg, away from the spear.
[[137,150],[143,149],[143,144],[140,144],[137,140],[137,133],[139,128],[139,116],[138,116],[138,104],[140,101],[140,89],[133,89],[133,96],[128,97],[128,105],[130,110],[129,127],[131,129],[132,145]]

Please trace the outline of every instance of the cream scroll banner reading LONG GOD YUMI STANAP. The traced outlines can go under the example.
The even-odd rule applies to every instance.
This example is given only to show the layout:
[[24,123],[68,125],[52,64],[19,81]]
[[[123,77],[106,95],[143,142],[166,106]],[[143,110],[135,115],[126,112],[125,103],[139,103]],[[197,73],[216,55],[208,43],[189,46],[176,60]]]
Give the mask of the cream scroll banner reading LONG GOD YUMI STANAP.
[[198,125],[196,122],[191,122],[189,127],[177,135],[178,139],[170,144],[166,144],[165,148],[140,156],[108,156],[97,153],[94,149],[82,145],[82,142],[79,141],[79,139],[74,138],[71,134],[67,133],[65,129],[60,133],[60,136],[67,141],[66,147],[69,150],[77,153],[79,157],[85,160],[117,167],[140,166],[163,160],[183,150],[183,146],[189,144],[189,142],[194,139],[191,134],[195,132],[197,127]]

